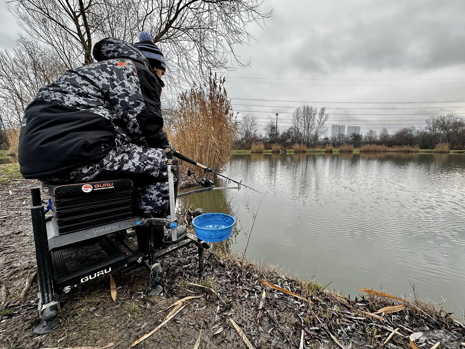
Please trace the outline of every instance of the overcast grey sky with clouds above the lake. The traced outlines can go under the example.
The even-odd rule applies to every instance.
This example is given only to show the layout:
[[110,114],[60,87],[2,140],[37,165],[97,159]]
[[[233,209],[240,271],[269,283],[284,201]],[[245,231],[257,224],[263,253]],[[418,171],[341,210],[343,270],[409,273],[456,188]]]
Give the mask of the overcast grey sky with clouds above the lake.
[[[329,103],[465,101],[465,1],[265,0],[263,10],[271,9],[272,17],[265,20],[263,29],[256,25],[249,28],[256,40],[236,49],[243,61],[250,60],[250,67],[228,73],[226,87],[239,118],[249,114],[265,124],[267,118],[275,120],[278,111],[280,129],[284,129],[286,119],[291,119],[291,114],[285,113],[304,103],[277,100],[326,106],[328,126],[358,125],[362,133],[369,128],[379,132],[387,127],[392,133],[400,127],[418,127],[431,116],[394,114],[463,112],[458,116],[465,117],[465,107],[460,107],[465,102]],[[15,19],[2,8],[0,47],[11,49],[18,32]],[[413,109],[356,109],[368,107]]]

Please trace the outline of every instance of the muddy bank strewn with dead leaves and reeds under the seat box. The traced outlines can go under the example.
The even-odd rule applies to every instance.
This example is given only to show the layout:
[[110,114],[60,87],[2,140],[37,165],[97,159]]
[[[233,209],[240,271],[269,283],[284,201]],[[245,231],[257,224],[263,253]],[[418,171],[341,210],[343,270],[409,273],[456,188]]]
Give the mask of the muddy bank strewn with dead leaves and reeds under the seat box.
[[[147,296],[148,273],[143,268],[113,275],[116,302],[107,276],[73,289],[62,296],[60,327],[36,336],[32,330],[38,323],[38,289],[29,213],[29,188],[35,186],[38,183],[29,180],[0,184],[0,348],[111,343],[108,348],[129,348],[163,321],[171,310],[163,310],[166,306],[186,296],[201,297],[183,303],[186,307],[166,326],[135,348],[194,348],[200,329],[199,348],[246,348],[230,319],[254,348],[378,348],[387,339],[385,347],[409,348],[409,336],[415,332],[423,333],[415,341],[419,348],[432,348],[437,342],[439,348],[458,348],[464,342],[464,326],[430,304],[389,295],[349,300],[314,280],[293,280],[264,264],[223,255],[214,248],[206,254],[208,275],[201,279],[195,275],[196,248],[183,248],[164,258],[160,296]],[[28,278],[33,283],[24,292]],[[284,290],[266,286],[259,278]],[[289,295],[289,290],[296,295]],[[397,308],[372,314],[393,305]]]

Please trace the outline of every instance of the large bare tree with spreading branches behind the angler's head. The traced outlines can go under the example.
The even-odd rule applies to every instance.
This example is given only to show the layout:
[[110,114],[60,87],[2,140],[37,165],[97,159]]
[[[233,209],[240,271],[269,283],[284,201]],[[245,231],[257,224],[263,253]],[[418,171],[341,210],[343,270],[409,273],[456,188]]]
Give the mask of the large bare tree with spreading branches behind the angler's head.
[[234,46],[252,39],[249,24],[271,15],[260,5],[259,0],[13,0],[8,8],[31,38],[69,68],[92,63],[92,45],[100,39],[133,41],[148,31],[166,55],[167,78],[185,83],[229,68],[230,58],[246,64]]

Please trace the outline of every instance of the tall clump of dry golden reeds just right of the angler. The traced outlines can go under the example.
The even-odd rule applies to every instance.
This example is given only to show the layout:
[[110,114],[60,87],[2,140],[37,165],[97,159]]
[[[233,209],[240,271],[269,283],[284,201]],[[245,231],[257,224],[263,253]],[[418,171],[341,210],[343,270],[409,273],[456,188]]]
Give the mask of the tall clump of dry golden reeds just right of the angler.
[[224,78],[210,75],[208,84],[180,94],[173,128],[167,130],[179,153],[219,172],[231,156],[237,129],[224,83]]

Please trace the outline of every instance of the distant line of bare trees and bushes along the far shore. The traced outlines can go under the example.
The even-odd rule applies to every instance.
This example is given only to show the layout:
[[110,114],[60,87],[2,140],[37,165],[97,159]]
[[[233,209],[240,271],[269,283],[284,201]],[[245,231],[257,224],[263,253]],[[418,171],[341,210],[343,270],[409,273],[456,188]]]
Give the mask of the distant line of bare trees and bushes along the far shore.
[[365,134],[332,137],[326,135],[327,119],[324,107],[320,110],[298,107],[292,114],[291,127],[279,131],[271,121],[265,126],[265,134],[260,134],[257,121],[247,115],[240,121],[235,146],[236,149],[250,149],[252,142],[263,142],[266,149],[271,149],[271,144],[275,143],[281,147],[305,144],[309,148],[325,148],[326,144],[332,144],[339,148],[342,144],[350,144],[359,148],[365,144],[379,144],[388,147],[418,145],[421,149],[433,149],[438,143],[449,143],[451,149],[465,149],[465,122],[455,115],[432,116],[425,121],[425,127],[400,128],[392,134],[387,128],[382,128],[379,133],[369,129]]

